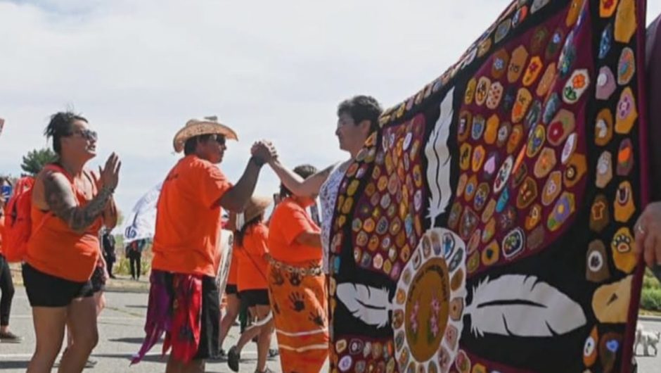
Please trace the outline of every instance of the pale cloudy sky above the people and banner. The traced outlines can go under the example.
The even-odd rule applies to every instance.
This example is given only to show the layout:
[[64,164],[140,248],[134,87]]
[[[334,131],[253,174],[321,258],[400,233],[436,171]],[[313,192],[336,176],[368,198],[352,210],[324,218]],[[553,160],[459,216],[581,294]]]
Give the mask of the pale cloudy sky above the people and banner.
[[[457,61],[508,0],[0,0],[0,174],[50,146],[49,116],[73,108],[99,134],[98,169],[122,159],[124,215],[181,156],[174,134],[217,115],[238,132],[221,165],[237,180],[258,139],[285,165],[348,156],[334,135],[338,103],[384,108]],[[648,1],[648,23],[661,0]],[[257,193],[278,181],[264,167]]]

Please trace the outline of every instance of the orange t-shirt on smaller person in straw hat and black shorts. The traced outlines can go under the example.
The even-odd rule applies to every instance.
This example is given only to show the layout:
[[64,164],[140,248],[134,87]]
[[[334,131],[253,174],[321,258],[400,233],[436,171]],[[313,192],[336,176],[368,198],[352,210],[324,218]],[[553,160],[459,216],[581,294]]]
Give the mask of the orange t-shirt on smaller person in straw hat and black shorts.
[[269,289],[267,271],[269,262],[264,255],[269,253],[267,241],[269,228],[264,223],[249,227],[243,236],[243,246],[238,246],[237,284],[239,291]]

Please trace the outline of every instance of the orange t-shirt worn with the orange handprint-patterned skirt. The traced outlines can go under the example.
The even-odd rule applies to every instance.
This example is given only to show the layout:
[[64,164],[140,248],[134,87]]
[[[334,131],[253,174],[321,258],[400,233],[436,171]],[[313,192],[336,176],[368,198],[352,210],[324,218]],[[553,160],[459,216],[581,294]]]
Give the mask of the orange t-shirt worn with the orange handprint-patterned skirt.
[[321,248],[296,243],[303,232],[321,232],[307,211],[291,198],[276,206],[269,225],[271,256],[283,263],[321,262]]

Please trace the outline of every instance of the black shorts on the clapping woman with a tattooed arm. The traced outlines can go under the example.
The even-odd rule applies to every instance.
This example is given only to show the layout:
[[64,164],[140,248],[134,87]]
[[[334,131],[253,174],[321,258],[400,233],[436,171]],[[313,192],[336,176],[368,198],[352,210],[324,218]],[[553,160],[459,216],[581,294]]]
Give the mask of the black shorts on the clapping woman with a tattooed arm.
[[76,298],[94,295],[92,284],[73,282],[23,264],[23,284],[31,307],[66,307]]

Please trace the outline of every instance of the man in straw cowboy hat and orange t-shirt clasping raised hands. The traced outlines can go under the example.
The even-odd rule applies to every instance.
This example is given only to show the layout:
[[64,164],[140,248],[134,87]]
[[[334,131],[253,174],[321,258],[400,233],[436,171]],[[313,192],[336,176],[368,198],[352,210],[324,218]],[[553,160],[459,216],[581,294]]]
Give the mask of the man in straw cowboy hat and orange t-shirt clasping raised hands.
[[276,156],[269,143],[253,146],[236,184],[216,166],[226,140],[236,132],[215,118],[189,120],[174,136],[184,151],[167,175],[158,199],[146,339],[139,362],[165,331],[163,352],[172,347],[166,372],[204,372],[218,350],[219,293],[215,275],[222,209],[242,212],[262,165]]

